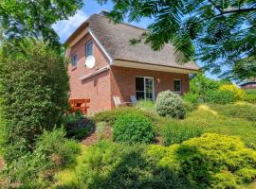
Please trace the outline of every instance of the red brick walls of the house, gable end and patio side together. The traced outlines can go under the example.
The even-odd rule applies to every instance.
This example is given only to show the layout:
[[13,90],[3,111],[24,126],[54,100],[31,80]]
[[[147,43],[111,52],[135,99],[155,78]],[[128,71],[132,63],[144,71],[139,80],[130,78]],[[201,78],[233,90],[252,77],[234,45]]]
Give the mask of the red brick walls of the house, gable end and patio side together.
[[[84,65],[85,44],[92,41],[93,55],[96,65],[92,69],[87,69]],[[109,65],[107,57],[101,47],[87,34],[82,40],[72,46],[70,57],[77,54],[77,67],[68,64],[68,74],[70,77],[70,98],[89,98],[88,113],[102,112],[115,108],[113,95],[118,95],[122,102],[130,101],[130,95],[136,95],[136,77],[154,77],[155,97],[161,91],[174,91],[174,79],[181,79],[182,93],[189,91],[189,75],[169,72],[160,72],[144,69],[135,69],[119,66],[111,66],[96,76],[81,80],[81,77],[90,75],[97,70]],[[157,80],[160,80],[158,83]]]

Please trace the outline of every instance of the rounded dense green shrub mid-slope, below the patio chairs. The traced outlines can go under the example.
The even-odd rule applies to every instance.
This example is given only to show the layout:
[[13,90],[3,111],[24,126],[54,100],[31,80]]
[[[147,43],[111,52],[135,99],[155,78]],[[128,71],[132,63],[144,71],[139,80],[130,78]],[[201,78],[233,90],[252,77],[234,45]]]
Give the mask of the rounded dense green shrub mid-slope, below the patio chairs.
[[151,143],[155,139],[152,121],[136,112],[120,115],[114,123],[114,140],[124,143]]

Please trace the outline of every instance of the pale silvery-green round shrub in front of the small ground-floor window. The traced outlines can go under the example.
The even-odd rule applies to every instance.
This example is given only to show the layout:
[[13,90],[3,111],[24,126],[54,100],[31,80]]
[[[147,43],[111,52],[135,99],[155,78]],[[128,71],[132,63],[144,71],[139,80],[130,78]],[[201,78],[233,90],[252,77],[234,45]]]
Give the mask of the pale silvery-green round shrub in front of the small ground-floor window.
[[161,92],[155,101],[156,112],[161,116],[184,118],[184,102],[179,94],[171,91]]

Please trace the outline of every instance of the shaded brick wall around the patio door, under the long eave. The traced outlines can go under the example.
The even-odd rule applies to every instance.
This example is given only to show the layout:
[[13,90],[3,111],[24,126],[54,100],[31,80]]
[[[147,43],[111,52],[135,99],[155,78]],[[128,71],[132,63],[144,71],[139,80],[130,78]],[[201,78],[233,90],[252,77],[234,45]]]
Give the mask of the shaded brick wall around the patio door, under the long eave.
[[[154,77],[155,97],[162,91],[174,91],[174,79],[181,79],[183,94],[187,93],[190,89],[188,74],[176,74],[118,66],[112,66],[110,74],[112,96],[119,95],[122,102],[131,101],[130,95],[136,95],[136,77]],[[157,78],[160,79],[159,83],[157,82]],[[111,100],[111,104],[112,108],[115,107],[113,99]]]

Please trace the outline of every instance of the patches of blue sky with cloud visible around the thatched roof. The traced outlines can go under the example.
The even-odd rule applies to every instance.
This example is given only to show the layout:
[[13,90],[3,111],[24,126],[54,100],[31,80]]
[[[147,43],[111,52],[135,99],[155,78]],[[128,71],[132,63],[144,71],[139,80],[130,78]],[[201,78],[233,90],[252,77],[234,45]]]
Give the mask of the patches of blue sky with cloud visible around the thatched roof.
[[[113,4],[109,1],[107,4],[101,6],[96,0],[84,0],[84,6],[82,9],[78,10],[78,12],[68,20],[58,22],[53,26],[53,28],[59,34],[61,42],[64,43],[68,36],[91,14],[100,13],[103,9],[111,10],[113,9]],[[150,19],[142,19],[139,23],[132,23],[132,25],[147,28],[151,22],[152,21]],[[200,62],[197,63],[202,65]],[[210,73],[207,73],[206,75],[208,77],[216,78],[216,76],[212,76]]]

